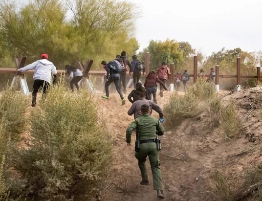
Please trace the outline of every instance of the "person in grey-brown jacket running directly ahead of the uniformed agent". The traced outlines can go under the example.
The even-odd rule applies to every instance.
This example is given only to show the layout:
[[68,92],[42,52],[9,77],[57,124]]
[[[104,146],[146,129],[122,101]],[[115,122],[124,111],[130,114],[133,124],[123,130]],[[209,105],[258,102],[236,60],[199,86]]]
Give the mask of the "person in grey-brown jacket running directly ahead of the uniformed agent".
[[150,107],[150,114],[152,114],[152,110],[154,110],[159,114],[160,122],[164,122],[164,113],[162,112],[161,108],[156,103],[153,103],[151,100],[147,100],[145,92],[139,93],[139,100],[135,101],[132,104],[131,108],[128,111],[128,115],[134,115],[135,119],[141,116],[140,108],[144,104]]

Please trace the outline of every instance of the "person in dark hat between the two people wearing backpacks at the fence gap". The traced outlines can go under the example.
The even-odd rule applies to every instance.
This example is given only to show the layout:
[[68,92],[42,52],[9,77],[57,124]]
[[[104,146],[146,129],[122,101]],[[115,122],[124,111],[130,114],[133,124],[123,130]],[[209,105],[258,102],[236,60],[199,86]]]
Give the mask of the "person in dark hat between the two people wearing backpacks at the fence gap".
[[130,63],[130,61],[126,58],[126,52],[122,51],[121,55],[119,56],[120,58],[120,64],[123,67],[123,70],[120,72],[120,86],[122,83],[123,86],[123,93],[126,94],[127,93],[127,71],[128,71],[128,67],[129,67],[129,73],[131,73],[132,70],[132,65]]

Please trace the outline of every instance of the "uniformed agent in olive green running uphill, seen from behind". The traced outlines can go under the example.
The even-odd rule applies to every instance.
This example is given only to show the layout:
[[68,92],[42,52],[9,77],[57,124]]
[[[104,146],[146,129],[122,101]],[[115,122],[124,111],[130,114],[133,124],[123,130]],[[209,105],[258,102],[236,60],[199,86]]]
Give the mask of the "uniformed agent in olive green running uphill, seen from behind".
[[[150,107],[146,104],[141,106],[141,116],[136,118],[127,128],[126,141],[131,146],[131,134],[134,129],[138,134],[136,139],[135,157],[138,160],[138,166],[141,171],[141,185],[149,185],[146,158],[149,156],[153,175],[153,189],[157,191],[158,198],[165,198],[162,188],[162,175],[159,161],[159,144],[157,144],[157,135],[164,134],[164,128],[154,117],[150,116]],[[139,143],[139,150],[137,149]]]

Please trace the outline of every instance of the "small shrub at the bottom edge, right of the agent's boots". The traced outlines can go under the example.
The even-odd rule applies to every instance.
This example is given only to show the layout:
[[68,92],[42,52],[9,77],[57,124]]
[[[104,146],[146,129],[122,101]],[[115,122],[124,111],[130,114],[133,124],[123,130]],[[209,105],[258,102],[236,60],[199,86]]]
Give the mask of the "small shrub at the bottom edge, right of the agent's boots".
[[236,189],[230,177],[225,173],[216,171],[213,182],[215,184],[214,194],[218,201],[235,201]]

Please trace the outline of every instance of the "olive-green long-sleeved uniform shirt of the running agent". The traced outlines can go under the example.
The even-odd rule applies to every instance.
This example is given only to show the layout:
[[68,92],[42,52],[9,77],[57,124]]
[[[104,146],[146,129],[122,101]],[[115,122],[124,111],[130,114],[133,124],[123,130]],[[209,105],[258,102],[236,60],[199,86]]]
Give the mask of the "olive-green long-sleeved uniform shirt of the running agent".
[[164,128],[158,119],[150,116],[149,113],[136,118],[127,128],[127,142],[131,142],[132,131],[136,129],[140,140],[155,139],[157,135],[164,134]]

